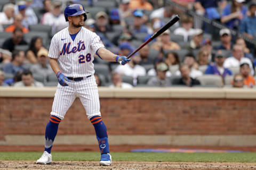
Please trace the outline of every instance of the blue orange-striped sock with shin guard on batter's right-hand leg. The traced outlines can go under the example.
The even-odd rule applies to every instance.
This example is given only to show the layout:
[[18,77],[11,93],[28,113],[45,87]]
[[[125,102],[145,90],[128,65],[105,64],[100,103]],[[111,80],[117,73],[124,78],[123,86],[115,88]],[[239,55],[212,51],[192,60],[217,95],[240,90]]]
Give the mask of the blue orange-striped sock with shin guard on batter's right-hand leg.
[[90,121],[94,126],[101,154],[109,153],[107,128],[103,123],[101,116],[93,116],[90,118]]

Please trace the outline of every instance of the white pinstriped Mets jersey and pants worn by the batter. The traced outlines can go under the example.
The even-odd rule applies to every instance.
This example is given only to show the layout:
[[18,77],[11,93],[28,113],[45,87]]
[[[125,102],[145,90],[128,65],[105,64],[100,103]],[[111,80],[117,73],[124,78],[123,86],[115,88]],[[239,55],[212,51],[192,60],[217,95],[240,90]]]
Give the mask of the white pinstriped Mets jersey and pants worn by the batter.
[[[83,77],[82,81],[67,82],[68,86],[57,86],[51,115],[63,119],[76,96],[81,100],[88,118],[100,114],[98,87],[93,76],[94,54],[104,47],[96,33],[82,27],[74,41],[68,27],[56,33],[51,41],[49,57],[58,58],[61,72],[67,77]],[[91,75],[91,77],[86,78]]]

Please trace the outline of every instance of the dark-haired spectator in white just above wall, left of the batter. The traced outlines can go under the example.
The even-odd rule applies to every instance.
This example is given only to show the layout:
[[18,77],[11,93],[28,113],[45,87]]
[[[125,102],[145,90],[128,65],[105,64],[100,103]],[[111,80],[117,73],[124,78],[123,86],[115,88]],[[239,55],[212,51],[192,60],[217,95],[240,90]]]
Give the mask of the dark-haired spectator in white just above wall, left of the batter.
[[29,70],[24,70],[21,74],[21,81],[13,87],[44,87],[44,84],[34,80],[33,74]]

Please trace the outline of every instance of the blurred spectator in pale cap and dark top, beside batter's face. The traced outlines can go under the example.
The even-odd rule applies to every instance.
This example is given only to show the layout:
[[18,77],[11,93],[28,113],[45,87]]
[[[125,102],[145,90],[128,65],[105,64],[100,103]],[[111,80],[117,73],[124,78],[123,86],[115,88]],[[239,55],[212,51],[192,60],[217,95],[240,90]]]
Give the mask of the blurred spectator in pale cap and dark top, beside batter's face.
[[108,24],[108,15],[106,12],[100,11],[95,15],[95,30],[100,33],[112,32],[112,28]]

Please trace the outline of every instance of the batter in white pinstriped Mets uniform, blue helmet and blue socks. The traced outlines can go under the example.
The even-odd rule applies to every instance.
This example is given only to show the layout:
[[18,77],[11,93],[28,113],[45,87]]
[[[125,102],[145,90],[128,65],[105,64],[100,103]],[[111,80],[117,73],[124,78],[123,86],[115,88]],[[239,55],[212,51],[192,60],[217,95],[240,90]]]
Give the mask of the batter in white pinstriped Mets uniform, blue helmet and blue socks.
[[84,7],[72,4],[64,15],[69,26],[56,33],[49,49],[50,64],[59,81],[54,96],[50,121],[45,129],[45,149],[37,164],[52,162],[51,148],[63,120],[76,95],[81,100],[86,115],[94,126],[101,152],[100,165],[111,165],[107,128],[102,121],[97,84],[94,79],[94,54],[102,60],[125,65],[130,60],[111,53],[96,33],[83,27],[87,19]]

